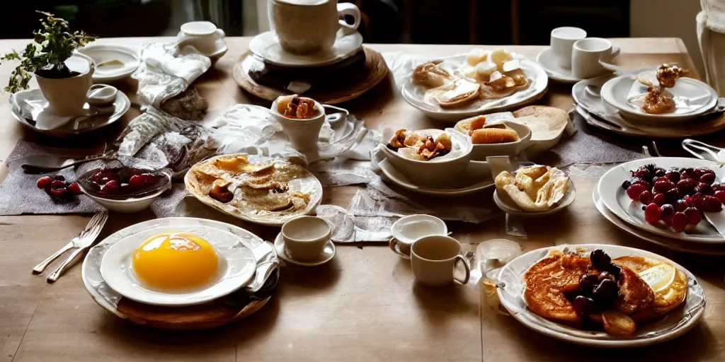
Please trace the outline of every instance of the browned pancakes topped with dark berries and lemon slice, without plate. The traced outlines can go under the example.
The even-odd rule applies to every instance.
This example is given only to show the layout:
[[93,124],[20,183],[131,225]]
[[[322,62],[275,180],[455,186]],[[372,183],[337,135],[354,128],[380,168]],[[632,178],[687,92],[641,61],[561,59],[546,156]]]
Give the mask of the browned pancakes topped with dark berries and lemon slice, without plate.
[[664,261],[610,258],[600,249],[552,250],[523,275],[530,311],[581,329],[629,336],[679,306],[688,278]]

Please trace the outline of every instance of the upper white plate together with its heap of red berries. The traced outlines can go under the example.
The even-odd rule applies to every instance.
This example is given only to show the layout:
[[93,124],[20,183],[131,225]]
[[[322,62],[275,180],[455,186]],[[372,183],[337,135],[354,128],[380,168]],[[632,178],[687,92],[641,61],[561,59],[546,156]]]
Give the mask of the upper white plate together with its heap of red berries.
[[607,209],[634,227],[696,243],[725,243],[725,169],[680,157],[640,159],[600,178]]

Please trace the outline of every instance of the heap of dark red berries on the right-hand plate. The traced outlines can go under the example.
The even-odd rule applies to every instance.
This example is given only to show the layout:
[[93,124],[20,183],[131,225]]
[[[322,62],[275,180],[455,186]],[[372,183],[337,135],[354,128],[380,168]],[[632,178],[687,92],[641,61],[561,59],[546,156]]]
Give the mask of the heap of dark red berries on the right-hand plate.
[[665,170],[647,164],[630,171],[622,189],[632,202],[642,203],[645,220],[665,224],[675,232],[689,231],[703,219],[703,212],[718,212],[725,202],[725,185],[715,182],[707,168]]

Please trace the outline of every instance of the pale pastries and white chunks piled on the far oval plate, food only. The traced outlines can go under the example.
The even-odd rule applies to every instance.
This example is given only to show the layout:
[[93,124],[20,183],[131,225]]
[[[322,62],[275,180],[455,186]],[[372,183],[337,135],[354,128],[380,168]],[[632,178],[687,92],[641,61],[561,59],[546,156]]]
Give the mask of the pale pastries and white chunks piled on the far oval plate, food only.
[[531,84],[520,60],[505,49],[473,49],[456,67],[427,62],[415,67],[411,80],[428,88],[426,98],[447,109],[510,96]]

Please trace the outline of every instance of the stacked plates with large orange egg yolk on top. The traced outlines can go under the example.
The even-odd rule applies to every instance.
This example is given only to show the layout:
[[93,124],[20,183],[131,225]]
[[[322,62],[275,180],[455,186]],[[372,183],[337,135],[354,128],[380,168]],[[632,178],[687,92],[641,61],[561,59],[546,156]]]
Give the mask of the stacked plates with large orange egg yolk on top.
[[110,235],[88,252],[82,274],[96,303],[123,319],[207,329],[264,306],[278,259],[269,243],[240,227],[174,217]]

